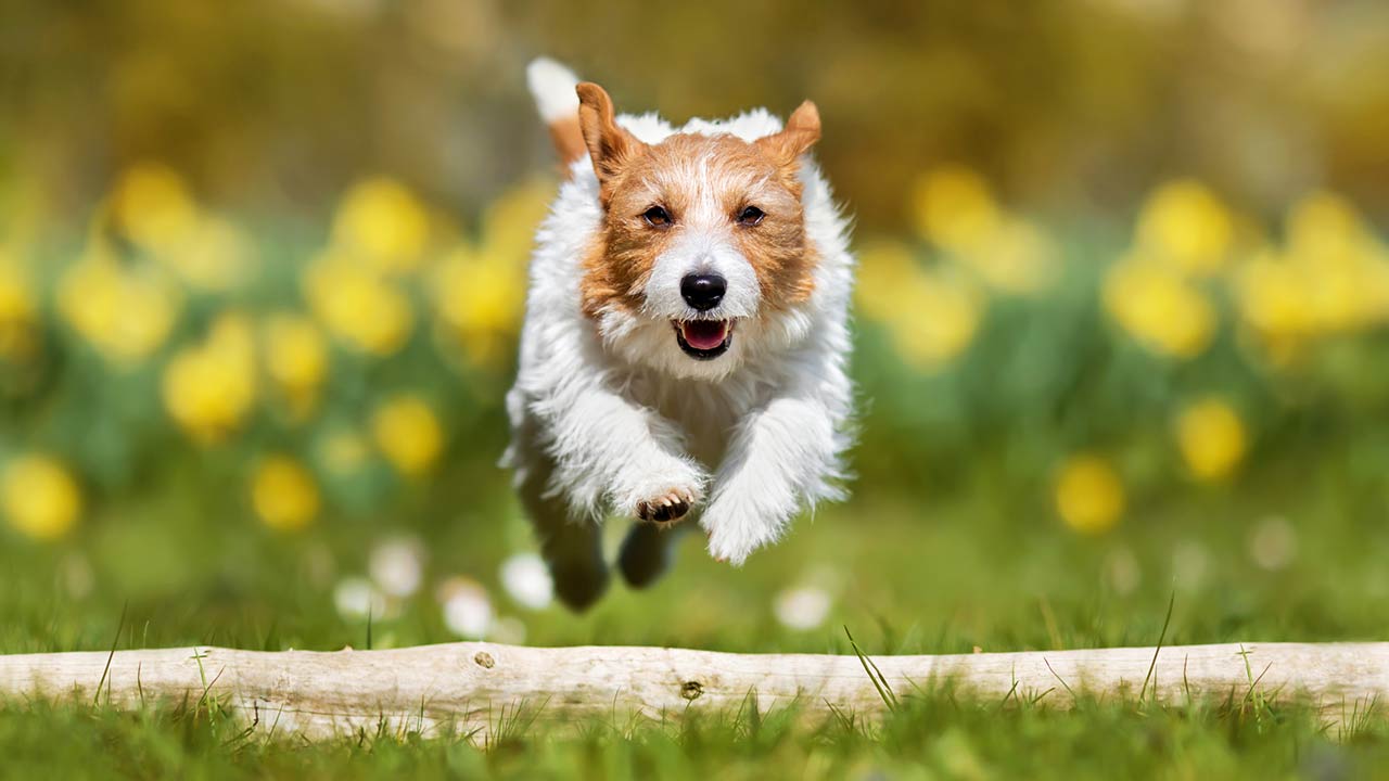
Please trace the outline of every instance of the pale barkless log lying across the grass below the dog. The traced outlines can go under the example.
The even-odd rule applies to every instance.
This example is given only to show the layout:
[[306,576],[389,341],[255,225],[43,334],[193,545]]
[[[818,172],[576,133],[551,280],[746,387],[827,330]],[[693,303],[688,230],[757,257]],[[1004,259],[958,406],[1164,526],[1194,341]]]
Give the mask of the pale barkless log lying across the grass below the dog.
[[[1224,643],[1095,650],[871,656],[743,655],[674,648],[519,648],[463,642],[392,650],[253,652],[172,648],[0,656],[0,699],[81,698],[136,707],[215,702],[267,735],[379,730],[486,739],[531,720],[686,712],[875,716],[932,687],[1070,707],[1081,696],[1299,698],[1328,724],[1389,695],[1389,643]],[[1151,674],[1149,670],[1151,668]],[[876,677],[876,674],[875,674]],[[1147,681],[1145,687],[1145,680]],[[100,685],[100,689],[99,689]],[[882,689],[882,691],[879,691]],[[100,693],[99,693],[100,691]]]

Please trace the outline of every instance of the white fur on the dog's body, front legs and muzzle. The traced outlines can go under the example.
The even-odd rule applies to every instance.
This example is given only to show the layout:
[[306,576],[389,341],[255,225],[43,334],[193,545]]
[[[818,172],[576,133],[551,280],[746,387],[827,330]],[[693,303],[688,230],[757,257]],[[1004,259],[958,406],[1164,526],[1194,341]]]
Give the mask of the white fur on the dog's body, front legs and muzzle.
[[[538,103],[544,114],[540,90]],[[654,114],[618,122],[647,143],[675,132],[753,140],[782,128],[761,108],[679,129]],[[599,183],[588,157],[569,174],[531,263],[504,463],[515,468],[532,514],[553,516],[558,500],[583,523],[631,517],[639,502],[685,492],[696,499],[692,513],[708,532],[710,553],[742,564],[801,509],[843,496],[840,457],[853,410],[847,224],[806,157],[807,239],[820,257],[808,302],[786,311],[760,307],[747,260],[717,235],[696,235],[658,258],[643,311],[610,310],[594,324],[581,311],[579,258],[601,222]],[[700,268],[729,281],[725,302],[706,317],[736,318],[729,350],[711,361],[683,354],[671,328],[672,318],[697,314],[678,286]],[[542,538],[560,523],[533,520]],[[564,552],[547,557],[554,566]]]

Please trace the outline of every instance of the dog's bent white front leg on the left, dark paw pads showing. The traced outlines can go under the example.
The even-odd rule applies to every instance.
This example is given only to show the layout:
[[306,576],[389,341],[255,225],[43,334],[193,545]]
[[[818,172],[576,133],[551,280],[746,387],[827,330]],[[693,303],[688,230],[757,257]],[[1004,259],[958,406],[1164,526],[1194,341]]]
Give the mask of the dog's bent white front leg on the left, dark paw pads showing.
[[656,410],[592,385],[550,416],[553,488],[571,506],[646,521],[674,521],[700,500],[707,475]]

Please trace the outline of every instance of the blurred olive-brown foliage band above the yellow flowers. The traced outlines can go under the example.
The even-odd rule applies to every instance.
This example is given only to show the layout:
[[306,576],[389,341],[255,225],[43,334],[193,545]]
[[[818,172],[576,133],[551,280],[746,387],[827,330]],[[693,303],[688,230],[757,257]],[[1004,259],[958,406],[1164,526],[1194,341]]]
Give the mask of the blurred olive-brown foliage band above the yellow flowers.
[[68,218],[147,158],[238,211],[321,217],[385,174],[468,214],[547,165],[521,74],[550,54],[674,120],[817,100],[822,158],[871,229],[903,227],[911,176],[945,161],[1064,214],[1196,176],[1260,215],[1325,188],[1383,218],[1386,17],[1376,0],[10,3],[0,170]]

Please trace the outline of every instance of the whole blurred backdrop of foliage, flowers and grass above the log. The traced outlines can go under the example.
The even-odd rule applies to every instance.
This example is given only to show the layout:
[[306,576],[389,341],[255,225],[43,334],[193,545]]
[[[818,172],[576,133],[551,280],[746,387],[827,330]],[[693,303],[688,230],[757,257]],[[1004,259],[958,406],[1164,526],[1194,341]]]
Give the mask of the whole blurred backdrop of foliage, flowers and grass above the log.
[[[0,650],[104,648],[122,606],[133,645],[1072,646],[1172,593],[1178,639],[1382,635],[1386,31],[1375,0],[7,4]],[[539,54],[676,122],[814,99],[861,256],[854,499],[582,618],[494,466],[558,182]]]

